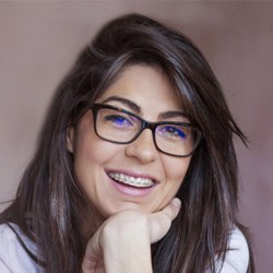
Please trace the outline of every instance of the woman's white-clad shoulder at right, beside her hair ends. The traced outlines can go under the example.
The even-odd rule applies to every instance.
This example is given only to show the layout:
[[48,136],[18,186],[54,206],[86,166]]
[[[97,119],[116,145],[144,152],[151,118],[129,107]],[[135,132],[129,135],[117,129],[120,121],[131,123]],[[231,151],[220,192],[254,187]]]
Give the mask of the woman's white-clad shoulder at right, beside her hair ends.
[[246,273],[249,264],[249,248],[246,237],[238,227],[235,227],[229,235],[228,250],[225,261],[218,264],[217,272],[221,273]]

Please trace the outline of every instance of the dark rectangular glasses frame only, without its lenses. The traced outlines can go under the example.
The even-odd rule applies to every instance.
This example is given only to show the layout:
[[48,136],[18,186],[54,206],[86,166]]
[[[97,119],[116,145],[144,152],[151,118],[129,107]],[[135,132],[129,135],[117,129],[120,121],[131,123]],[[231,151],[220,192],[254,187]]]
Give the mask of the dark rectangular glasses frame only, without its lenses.
[[[138,120],[141,121],[141,128],[140,128],[139,132],[130,141],[114,141],[114,140],[109,140],[107,138],[102,136],[97,132],[97,124],[96,124],[97,123],[97,112],[99,111],[99,109],[112,109],[112,110],[124,112],[127,115],[130,115],[130,116],[136,118]],[[188,157],[188,156],[192,155],[192,153],[195,151],[197,146],[199,145],[199,143],[200,143],[201,139],[202,139],[201,131],[198,128],[193,127],[189,122],[178,122],[178,121],[150,122],[150,121],[146,121],[145,119],[141,118],[140,116],[135,115],[134,112],[126,110],[126,109],[123,109],[121,107],[117,107],[117,106],[112,106],[112,105],[106,105],[106,104],[94,104],[91,107],[91,110],[92,110],[93,117],[94,117],[94,122],[93,123],[94,123],[94,131],[95,131],[96,135],[99,139],[108,141],[108,142],[111,142],[111,143],[116,143],[116,144],[130,144],[133,141],[135,141],[145,129],[150,129],[152,131],[153,142],[154,142],[154,145],[155,145],[155,147],[156,147],[157,151],[159,151],[159,152],[162,152],[164,154],[170,155],[170,156],[175,156],[175,157]],[[162,149],[159,149],[158,145],[157,145],[157,143],[156,143],[155,131],[156,131],[156,128],[158,126],[162,126],[162,124],[183,126],[183,127],[188,127],[188,128],[191,128],[192,130],[194,130],[197,132],[197,139],[195,139],[194,145],[192,147],[192,151],[190,153],[186,154],[186,155],[177,155],[177,154],[171,154],[171,153],[165,152]]]

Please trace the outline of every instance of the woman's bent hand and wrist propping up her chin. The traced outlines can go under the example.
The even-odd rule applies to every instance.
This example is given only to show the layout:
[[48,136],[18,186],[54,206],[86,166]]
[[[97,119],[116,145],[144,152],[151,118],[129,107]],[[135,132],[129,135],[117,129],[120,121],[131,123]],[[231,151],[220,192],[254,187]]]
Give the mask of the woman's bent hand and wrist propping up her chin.
[[110,216],[87,242],[83,272],[153,272],[151,244],[167,234],[179,210],[176,198],[159,212],[128,210]]

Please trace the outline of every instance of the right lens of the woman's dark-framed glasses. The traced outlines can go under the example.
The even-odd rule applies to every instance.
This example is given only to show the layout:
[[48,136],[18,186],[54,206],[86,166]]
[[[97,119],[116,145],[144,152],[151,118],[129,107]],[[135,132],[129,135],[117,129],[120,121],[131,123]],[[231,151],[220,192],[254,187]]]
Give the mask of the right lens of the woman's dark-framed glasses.
[[155,141],[158,149],[163,152],[186,156],[194,149],[197,132],[190,126],[159,124],[156,127]]

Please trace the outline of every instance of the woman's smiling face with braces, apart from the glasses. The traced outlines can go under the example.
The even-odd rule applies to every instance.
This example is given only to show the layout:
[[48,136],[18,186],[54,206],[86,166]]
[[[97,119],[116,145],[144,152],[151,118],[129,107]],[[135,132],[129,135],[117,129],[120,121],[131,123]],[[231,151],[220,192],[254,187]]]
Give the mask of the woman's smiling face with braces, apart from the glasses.
[[[144,64],[127,68],[96,103],[121,107],[149,121],[187,121],[174,115],[181,112],[181,103],[167,78]],[[128,209],[155,212],[165,206],[182,183],[190,157],[157,151],[151,130],[130,144],[107,142],[96,135],[93,123],[90,110],[69,131],[68,149],[78,181],[100,216]]]

